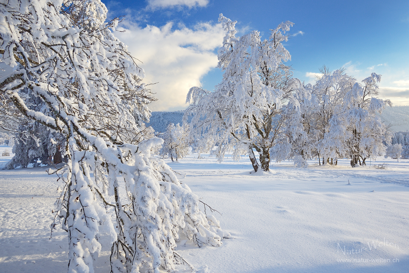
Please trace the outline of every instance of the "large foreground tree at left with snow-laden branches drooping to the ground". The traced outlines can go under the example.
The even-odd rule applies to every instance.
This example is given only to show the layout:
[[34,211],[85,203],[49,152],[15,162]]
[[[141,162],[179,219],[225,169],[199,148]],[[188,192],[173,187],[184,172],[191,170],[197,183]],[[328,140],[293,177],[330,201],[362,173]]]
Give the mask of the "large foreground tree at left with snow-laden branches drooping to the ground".
[[[142,130],[152,97],[112,34],[119,19],[104,23],[99,0],[9,0],[0,9],[0,54],[13,68],[0,82],[1,113],[65,137],[52,229],[68,232],[68,272],[94,272],[102,232],[111,237],[112,273],[174,271],[185,263],[175,252],[180,236],[220,246],[229,234],[151,154],[163,140]],[[46,111],[26,103],[33,97]]]

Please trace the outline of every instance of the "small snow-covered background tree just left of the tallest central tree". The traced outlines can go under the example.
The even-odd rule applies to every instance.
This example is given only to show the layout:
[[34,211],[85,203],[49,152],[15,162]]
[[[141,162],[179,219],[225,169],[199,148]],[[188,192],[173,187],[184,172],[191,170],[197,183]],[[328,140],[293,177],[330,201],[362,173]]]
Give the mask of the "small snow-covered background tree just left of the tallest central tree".
[[170,157],[172,161],[178,161],[178,158],[183,158],[189,154],[190,138],[189,138],[189,124],[182,126],[172,123],[166,128],[166,132],[158,135],[164,140],[162,149],[159,155],[162,158]]

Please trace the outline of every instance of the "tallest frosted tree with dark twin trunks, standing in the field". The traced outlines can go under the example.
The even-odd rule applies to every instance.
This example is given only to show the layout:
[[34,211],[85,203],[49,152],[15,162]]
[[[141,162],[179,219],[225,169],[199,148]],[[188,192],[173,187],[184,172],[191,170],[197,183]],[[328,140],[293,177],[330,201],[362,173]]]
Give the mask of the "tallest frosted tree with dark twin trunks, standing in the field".
[[260,155],[261,169],[268,171],[270,149],[285,140],[287,112],[283,108],[297,109],[294,92],[302,87],[285,65],[290,53],[283,42],[288,40],[285,32],[293,23],[281,23],[271,30],[268,39],[261,40],[257,31],[236,37],[236,21],[222,14],[219,22],[226,31],[223,46],[218,50],[223,79],[214,92],[198,87],[189,90],[187,102],[191,104],[185,120],[187,115],[194,115],[192,133],[206,138],[206,143],[211,143],[207,148],[216,146],[220,161],[226,151],[234,150],[236,155],[245,151],[257,171],[255,149]]

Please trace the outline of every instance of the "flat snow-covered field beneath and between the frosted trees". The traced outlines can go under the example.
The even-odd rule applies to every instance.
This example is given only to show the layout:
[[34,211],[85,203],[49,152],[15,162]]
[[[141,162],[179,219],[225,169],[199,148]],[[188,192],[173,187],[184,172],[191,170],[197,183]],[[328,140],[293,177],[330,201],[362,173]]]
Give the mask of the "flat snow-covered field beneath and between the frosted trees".
[[[306,169],[281,162],[268,174],[250,174],[244,157],[221,164],[196,157],[169,165],[222,214],[215,216],[233,238],[220,248],[181,242],[178,251],[191,264],[212,273],[408,272],[409,160],[379,158],[354,169],[349,160],[336,167],[311,161]],[[387,169],[373,168],[382,162]],[[46,169],[0,171],[0,272],[66,271],[65,232],[49,240],[61,182]],[[108,251],[96,272],[109,273]]]

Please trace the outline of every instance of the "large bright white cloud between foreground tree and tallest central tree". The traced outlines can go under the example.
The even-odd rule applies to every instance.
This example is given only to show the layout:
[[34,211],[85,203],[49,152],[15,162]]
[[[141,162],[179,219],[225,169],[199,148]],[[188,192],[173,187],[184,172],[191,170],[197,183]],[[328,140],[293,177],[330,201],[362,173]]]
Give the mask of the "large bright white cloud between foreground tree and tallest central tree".
[[[131,54],[142,61],[145,83],[151,85],[157,102],[152,111],[185,108],[186,95],[193,86],[200,86],[200,78],[217,65],[214,50],[222,45],[225,32],[220,24],[200,23],[193,29],[172,23],[162,27],[128,25],[126,32],[115,32],[128,45]],[[119,29],[123,30],[123,29]]]

